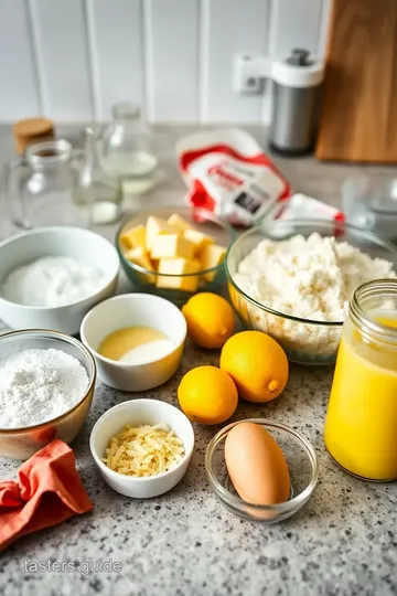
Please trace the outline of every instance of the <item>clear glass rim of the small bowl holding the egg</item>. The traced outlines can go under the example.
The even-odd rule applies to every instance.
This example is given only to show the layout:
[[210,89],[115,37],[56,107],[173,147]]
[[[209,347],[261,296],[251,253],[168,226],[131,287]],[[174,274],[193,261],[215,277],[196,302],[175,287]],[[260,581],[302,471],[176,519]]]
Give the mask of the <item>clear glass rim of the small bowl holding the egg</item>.
[[[221,440],[224,438],[225,435],[237,424],[240,423],[254,423],[254,424],[260,424],[261,426],[265,426],[267,428],[282,430],[290,437],[293,437],[296,441],[304,449],[305,455],[311,464],[311,479],[309,485],[297,494],[297,497],[293,497],[289,501],[286,501],[283,503],[276,503],[276,504],[268,504],[268,505],[258,505],[255,503],[248,503],[246,501],[243,501],[239,497],[235,497],[227,489],[225,489],[221,482],[217,480],[216,475],[213,471],[212,467],[212,456],[214,454],[215,447],[221,443]],[[205,471],[207,475],[207,478],[210,480],[210,485],[215,490],[216,494],[221,497],[222,500],[224,500],[227,504],[233,507],[234,509],[242,510],[242,507],[248,505],[249,508],[253,508],[254,510],[258,512],[273,512],[273,513],[288,513],[291,511],[294,511],[300,509],[305,501],[310,498],[312,494],[315,485],[318,483],[319,479],[319,462],[315,454],[315,449],[308,440],[304,438],[300,433],[291,428],[290,426],[287,426],[282,423],[277,423],[273,421],[269,421],[268,418],[246,418],[244,421],[236,421],[232,424],[228,424],[216,435],[211,439],[211,441],[207,445],[207,448],[205,450]]]

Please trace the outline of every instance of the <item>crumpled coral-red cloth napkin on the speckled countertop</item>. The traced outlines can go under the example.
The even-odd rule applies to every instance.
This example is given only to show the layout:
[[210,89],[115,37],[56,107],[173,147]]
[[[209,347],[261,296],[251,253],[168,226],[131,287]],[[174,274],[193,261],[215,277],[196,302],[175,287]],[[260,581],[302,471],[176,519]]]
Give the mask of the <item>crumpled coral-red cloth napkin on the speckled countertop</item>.
[[0,551],[24,534],[93,509],[74,453],[54,439],[22,464],[18,481],[0,482]]

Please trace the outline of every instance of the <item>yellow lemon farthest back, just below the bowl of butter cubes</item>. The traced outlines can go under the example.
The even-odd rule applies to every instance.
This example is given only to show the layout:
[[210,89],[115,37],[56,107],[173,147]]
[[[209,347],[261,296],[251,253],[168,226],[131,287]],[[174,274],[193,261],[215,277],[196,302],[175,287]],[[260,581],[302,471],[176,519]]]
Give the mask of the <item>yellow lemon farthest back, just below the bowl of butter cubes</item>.
[[216,294],[203,291],[182,307],[190,338],[201,348],[222,348],[235,330],[230,305]]

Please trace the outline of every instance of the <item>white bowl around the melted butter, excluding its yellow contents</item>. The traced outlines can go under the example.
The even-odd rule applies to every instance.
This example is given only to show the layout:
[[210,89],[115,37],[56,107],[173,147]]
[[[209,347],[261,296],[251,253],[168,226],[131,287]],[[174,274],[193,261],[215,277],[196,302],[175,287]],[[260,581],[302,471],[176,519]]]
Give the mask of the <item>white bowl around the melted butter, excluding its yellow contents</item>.
[[[170,352],[144,364],[109,360],[97,350],[100,342],[125,327],[147,326],[162,331],[173,341]],[[158,387],[176,371],[186,338],[186,321],[169,300],[150,294],[125,294],[105,300],[84,318],[82,341],[94,353],[99,379],[120,391],[146,391]]]

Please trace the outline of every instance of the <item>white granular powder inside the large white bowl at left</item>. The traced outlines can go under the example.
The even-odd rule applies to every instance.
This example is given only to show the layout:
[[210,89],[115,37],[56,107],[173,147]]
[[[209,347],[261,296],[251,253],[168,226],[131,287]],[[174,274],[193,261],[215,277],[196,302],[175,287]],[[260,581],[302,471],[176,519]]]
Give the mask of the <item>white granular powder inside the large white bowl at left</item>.
[[84,300],[105,285],[99,268],[71,257],[43,257],[12,270],[1,295],[6,300],[31,307],[61,307]]

